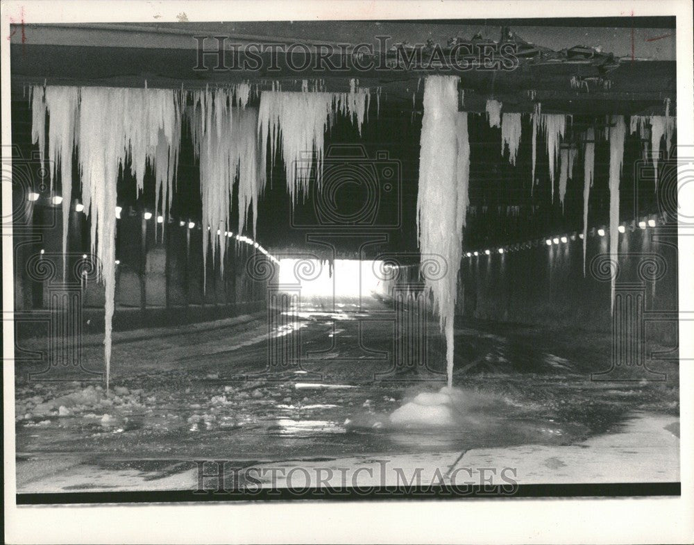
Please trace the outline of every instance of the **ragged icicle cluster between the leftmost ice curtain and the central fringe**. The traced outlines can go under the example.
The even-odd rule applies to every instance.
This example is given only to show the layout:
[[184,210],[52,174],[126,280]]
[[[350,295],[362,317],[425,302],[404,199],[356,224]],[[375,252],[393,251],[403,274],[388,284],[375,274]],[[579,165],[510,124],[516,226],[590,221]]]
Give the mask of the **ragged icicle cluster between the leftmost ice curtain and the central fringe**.
[[[238,233],[253,210],[253,235],[257,225],[257,202],[265,187],[264,162],[257,150],[257,110],[245,108],[245,87],[196,91],[190,113],[193,146],[200,159],[202,224],[208,227],[203,251],[203,289],[206,287],[208,246],[212,262],[219,249],[219,272],[224,254],[234,183],[238,181]],[[236,99],[234,99],[236,97]],[[234,106],[236,104],[237,106]]]

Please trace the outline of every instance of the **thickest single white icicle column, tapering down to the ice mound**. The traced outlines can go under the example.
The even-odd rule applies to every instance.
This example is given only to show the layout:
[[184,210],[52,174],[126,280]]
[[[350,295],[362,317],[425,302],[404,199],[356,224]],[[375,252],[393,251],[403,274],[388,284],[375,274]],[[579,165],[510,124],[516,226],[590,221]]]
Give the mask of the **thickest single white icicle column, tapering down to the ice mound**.
[[446,267],[441,278],[425,275],[439,326],[446,335],[448,384],[453,371],[453,319],[462,257],[462,229],[470,167],[467,116],[457,108],[457,76],[429,76],[424,84],[417,233],[422,262],[432,255]]

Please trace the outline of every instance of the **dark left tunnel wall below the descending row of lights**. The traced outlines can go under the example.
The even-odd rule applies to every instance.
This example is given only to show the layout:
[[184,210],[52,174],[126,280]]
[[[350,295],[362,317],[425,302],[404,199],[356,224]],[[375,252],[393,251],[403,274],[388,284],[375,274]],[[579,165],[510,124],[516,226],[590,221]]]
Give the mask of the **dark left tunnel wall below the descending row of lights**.
[[[29,217],[33,226],[18,230],[14,237],[15,310],[39,317],[51,308],[51,294],[56,288],[74,290],[76,286],[83,333],[103,331],[103,283],[96,276],[76,280],[74,272],[82,256],[91,253],[83,213],[72,207],[65,277],[60,209],[37,206]],[[214,260],[208,253],[203,286],[202,230],[171,222],[162,235],[162,225],[156,224],[155,229],[154,219],[144,221],[141,213],[126,215],[125,211],[118,224],[114,330],[209,321],[265,308],[266,282],[254,280],[246,272],[252,246],[229,239],[223,271],[219,250]],[[37,267],[51,269],[52,275],[37,279],[41,276]],[[17,324],[18,337],[46,334],[46,324],[40,319]]]

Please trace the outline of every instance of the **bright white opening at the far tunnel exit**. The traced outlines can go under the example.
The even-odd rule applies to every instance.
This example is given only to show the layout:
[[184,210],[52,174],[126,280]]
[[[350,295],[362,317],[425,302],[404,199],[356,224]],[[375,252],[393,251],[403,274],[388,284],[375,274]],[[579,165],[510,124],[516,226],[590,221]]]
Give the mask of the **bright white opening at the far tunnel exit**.
[[[301,285],[301,297],[325,296],[356,298],[386,294],[388,271],[382,271],[382,261],[355,259],[335,260],[330,275],[330,263],[315,259],[284,258],[280,260],[280,285]],[[333,289],[335,290],[333,292]]]

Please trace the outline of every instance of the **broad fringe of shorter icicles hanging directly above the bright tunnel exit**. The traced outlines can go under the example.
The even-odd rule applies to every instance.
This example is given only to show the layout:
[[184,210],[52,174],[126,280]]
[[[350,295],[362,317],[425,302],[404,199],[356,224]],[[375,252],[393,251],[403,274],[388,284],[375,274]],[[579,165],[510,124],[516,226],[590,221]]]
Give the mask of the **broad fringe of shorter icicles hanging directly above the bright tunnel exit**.
[[262,92],[257,123],[262,157],[265,161],[270,146],[274,162],[281,141],[293,204],[300,194],[307,195],[314,163],[316,183],[321,184],[325,131],[335,114],[350,117],[361,133],[368,104],[369,90],[359,89],[355,80],[350,82],[350,91],[343,93]]

